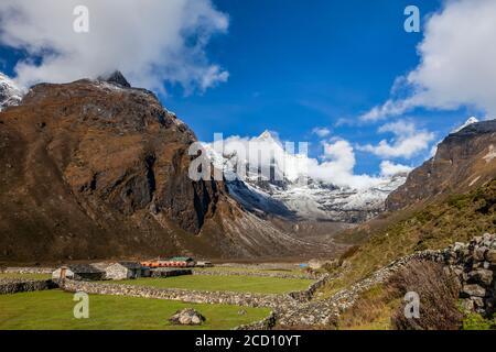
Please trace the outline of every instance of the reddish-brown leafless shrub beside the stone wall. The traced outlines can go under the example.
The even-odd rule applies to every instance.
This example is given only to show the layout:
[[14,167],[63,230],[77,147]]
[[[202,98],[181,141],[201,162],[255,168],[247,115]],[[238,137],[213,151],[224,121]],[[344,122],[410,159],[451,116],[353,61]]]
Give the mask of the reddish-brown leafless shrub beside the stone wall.
[[453,330],[462,326],[459,309],[460,283],[441,264],[413,261],[395,274],[389,284],[403,297],[414,292],[420,297],[420,318],[407,318],[405,305],[392,317],[399,330]]

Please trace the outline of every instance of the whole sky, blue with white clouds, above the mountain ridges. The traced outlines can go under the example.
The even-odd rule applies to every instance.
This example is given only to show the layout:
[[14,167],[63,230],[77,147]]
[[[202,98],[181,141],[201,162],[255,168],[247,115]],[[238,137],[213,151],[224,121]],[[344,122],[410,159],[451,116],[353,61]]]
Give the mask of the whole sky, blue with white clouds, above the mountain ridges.
[[[67,14],[72,15],[72,2],[87,4],[93,19],[98,19],[89,36],[58,30],[71,24]],[[33,10],[30,1],[2,0],[0,14],[12,6],[25,16],[22,22],[0,21],[0,34],[10,35],[0,35],[0,70],[24,81],[71,80],[117,66],[132,82],[159,91],[163,105],[205,142],[212,141],[216,132],[256,136],[270,130],[282,141],[310,142],[311,156],[319,157],[324,152],[323,142],[332,146],[342,139],[353,147],[355,174],[374,175],[384,161],[421,164],[429,158],[431,146],[468,117],[496,111],[490,102],[495,53],[484,53],[496,34],[490,24],[495,7],[488,0],[155,1],[149,2],[147,9],[139,8],[140,21],[127,18],[138,12],[138,2],[76,2],[67,0],[56,8],[51,8],[55,2],[37,2],[40,8]],[[122,6],[110,8],[112,3]],[[410,4],[420,9],[420,33],[403,30],[403,11]],[[50,21],[43,11],[50,13]],[[435,25],[428,37],[424,24],[441,11],[443,15],[432,20]],[[470,16],[466,21],[460,16],[471,11],[481,23],[490,24],[484,28],[486,32],[471,33],[474,25]],[[101,23],[108,26],[99,28]],[[176,24],[165,28],[169,23]],[[439,35],[432,34],[439,34],[445,23],[455,23],[456,28],[441,31],[448,37],[435,42]],[[33,32],[33,28],[39,30]],[[195,35],[185,38],[183,33]],[[6,43],[6,37],[11,43]],[[466,46],[479,45],[472,47],[477,55],[460,55],[453,47],[464,45],[451,45],[452,38],[467,41]],[[419,50],[424,42],[428,45]],[[51,46],[46,47],[46,43]],[[162,51],[154,51],[158,46]],[[174,55],[166,57],[171,52]],[[45,56],[40,57],[40,53]],[[50,63],[46,53],[60,53],[61,61]],[[448,53],[445,57],[443,53]],[[422,68],[421,57],[441,57],[450,64],[436,73],[429,65]],[[14,69],[25,58],[31,61],[24,65],[28,69]],[[475,78],[459,69],[467,67],[467,63]],[[446,74],[451,67],[453,75]],[[227,72],[226,80],[223,75]],[[392,117],[386,117],[389,112],[382,109],[384,119],[365,121],[365,113],[390,99],[408,101],[409,92],[403,92],[405,97],[401,91],[392,95],[391,88],[398,77],[411,72],[418,74],[412,82],[430,90],[430,95],[420,97],[422,103]],[[198,81],[205,82],[208,73],[214,75],[205,87],[191,89]],[[481,82],[481,99],[463,89],[465,81]],[[410,95],[412,82],[407,87]],[[161,89],[163,86],[165,89]],[[453,86],[460,91],[452,91]],[[489,102],[483,97],[486,91]],[[315,128],[325,128],[330,133],[319,136],[312,133]],[[409,147],[413,152],[409,153]]]

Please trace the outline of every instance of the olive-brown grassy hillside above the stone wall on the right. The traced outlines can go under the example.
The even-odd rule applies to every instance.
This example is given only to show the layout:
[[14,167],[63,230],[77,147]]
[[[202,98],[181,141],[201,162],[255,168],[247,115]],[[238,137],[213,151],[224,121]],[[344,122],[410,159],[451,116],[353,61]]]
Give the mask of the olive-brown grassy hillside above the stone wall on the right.
[[443,249],[484,232],[496,232],[496,179],[466,195],[452,195],[423,206],[378,219],[341,239],[362,244],[343,257],[343,278],[325,288],[330,295],[416,251]]

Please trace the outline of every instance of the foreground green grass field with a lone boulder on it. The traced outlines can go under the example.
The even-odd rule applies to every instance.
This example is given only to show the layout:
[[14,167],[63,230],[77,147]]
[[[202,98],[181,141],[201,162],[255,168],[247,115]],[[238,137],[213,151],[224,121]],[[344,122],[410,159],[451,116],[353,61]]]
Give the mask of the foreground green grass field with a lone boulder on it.
[[[227,330],[261,320],[265,308],[195,305],[171,300],[118,296],[90,296],[89,319],[75,319],[73,295],[46,290],[0,296],[0,330]],[[206,321],[200,327],[171,326],[168,319],[183,308],[198,310]]]

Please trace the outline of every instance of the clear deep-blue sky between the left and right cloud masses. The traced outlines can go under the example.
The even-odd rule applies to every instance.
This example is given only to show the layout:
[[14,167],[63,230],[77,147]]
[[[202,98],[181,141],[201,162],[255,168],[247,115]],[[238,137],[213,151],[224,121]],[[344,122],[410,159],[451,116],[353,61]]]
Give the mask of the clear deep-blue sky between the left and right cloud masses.
[[[214,132],[254,136],[277,131],[282,140],[309,141],[322,153],[315,127],[352,143],[378,143],[377,124],[348,125],[385,101],[395,78],[419,63],[422,33],[403,30],[411,1],[217,0],[230,19],[227,34],[215,37],[207,54],[229,70],[229,80],[203,95],[173,89],[164,105],[186,121],[203,141]],[[439,1],[416,1],[421,13]],[[445,135],[467,111],[414,111],[408,119]],[[418,165],[429,150],[412,158]],[[357,152],[357,173],[376,173],[380,158]]]

